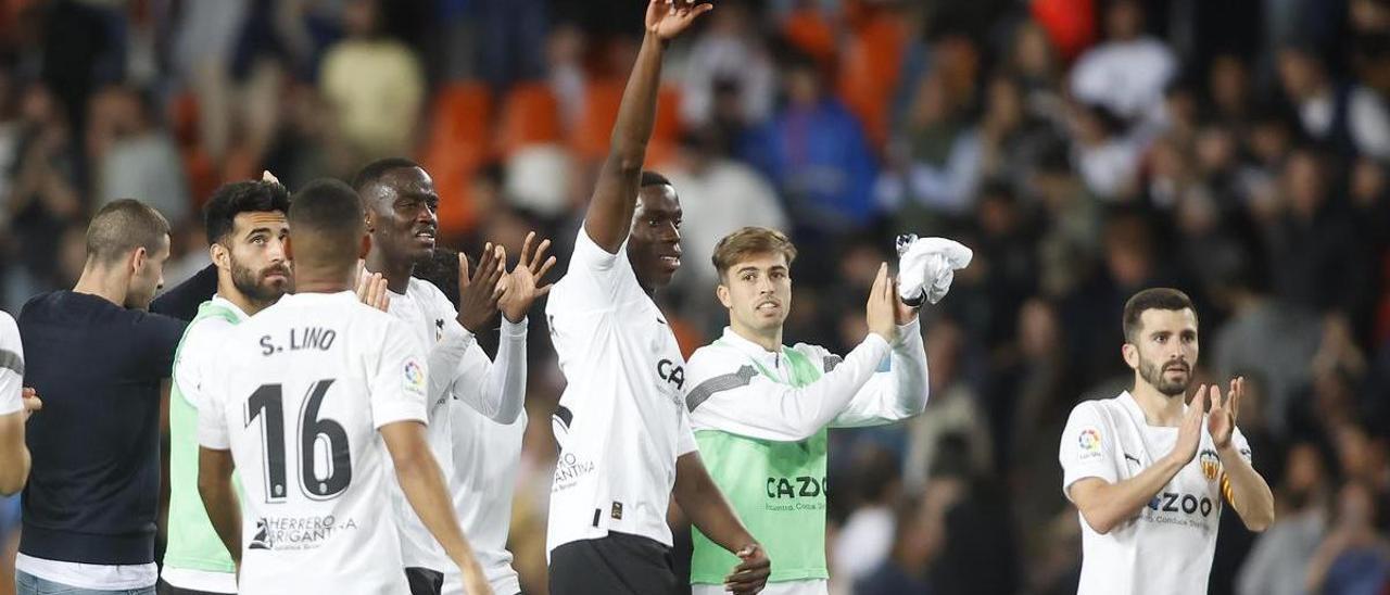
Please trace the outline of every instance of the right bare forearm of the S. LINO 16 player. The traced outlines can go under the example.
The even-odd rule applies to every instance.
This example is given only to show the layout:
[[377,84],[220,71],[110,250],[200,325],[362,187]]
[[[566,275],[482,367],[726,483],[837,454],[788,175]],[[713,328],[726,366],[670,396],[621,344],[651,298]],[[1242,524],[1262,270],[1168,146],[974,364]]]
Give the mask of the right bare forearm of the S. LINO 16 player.
[[443,546],[449,559],[463,573],[481,571],[473,548],[459,528],[443,473],[425,442],[425,425],[418,421],[398,421],[381,427],[381,438],[396,467],[396,481],[406,500],[420,517],[420,523]]

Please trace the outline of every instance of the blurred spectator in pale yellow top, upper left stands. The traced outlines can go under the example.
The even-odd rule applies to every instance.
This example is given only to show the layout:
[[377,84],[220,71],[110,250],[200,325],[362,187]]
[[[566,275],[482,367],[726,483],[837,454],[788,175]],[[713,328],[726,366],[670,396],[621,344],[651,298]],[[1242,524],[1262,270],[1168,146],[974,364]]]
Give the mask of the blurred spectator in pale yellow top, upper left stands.
[[349,0],[343,25],[320,75],[339,133],[359,161],[409,154],[425,92],[420,58],[382,35],[379,0]]

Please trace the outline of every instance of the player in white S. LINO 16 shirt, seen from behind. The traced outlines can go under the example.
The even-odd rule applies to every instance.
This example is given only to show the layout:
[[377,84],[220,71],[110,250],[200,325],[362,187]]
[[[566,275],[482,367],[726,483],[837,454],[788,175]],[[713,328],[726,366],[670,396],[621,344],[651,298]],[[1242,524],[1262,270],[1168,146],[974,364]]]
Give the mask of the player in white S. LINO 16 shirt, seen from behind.
[[295,195],[285,252],[297,293],[222,343],[199,416],[199,492],[239,564],[239,592],[403,595],[395,519],[382,514],[393,467],[468,592],[489,594],[425,441],[425,354],[352,292],[371,243],[364,218],[342,182]]

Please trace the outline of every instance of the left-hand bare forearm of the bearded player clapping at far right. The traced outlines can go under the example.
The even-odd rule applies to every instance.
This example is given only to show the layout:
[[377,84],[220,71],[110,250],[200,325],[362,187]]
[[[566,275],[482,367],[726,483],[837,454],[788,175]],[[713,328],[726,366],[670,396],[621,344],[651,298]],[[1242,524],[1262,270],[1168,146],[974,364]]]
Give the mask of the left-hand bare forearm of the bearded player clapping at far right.
[[1104,535],[1138,514],[1184,464],[1187,463],[1165,456],[1138,475],[1115,484],[1098,477],[1077,480],[1068,488],[1068,495],[1086,524]]

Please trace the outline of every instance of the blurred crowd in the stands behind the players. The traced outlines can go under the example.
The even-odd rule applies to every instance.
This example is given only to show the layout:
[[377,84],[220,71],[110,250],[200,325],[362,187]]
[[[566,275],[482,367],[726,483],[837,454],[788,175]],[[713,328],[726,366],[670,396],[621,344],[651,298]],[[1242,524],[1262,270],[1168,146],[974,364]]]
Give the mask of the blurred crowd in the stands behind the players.
[[[644,6],[0,0],[0,306],[71,288],[110,200],[174,224],[172,285],[207,264],[217,185],[382,156],[434,177],[442,245],[516,254],[539,229],[564,259]],[[649,145],[684,207],[659,302],[687,353],[727,320],[709,257],[738,227],[792,234],[785,338],[838,353],[895,234],[974,249],[923,311],[926,413],[831,434],[834,592],[1074,592],[1059,432],[1127,388],[1120,310],[1148,286],[1198,303],[1198,381],[1245,377],[1275,487],[1269,531],[1223,517],[1212,592],[1384,592],[1390,1],[717,0],[702,21]],[[563,377],[531,328],[512,546],[542,594]]]

